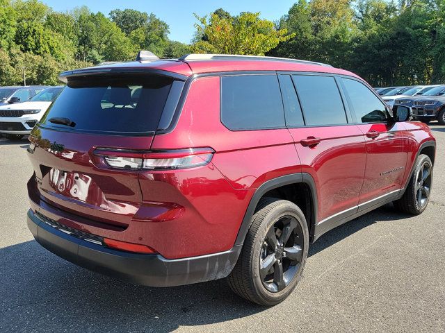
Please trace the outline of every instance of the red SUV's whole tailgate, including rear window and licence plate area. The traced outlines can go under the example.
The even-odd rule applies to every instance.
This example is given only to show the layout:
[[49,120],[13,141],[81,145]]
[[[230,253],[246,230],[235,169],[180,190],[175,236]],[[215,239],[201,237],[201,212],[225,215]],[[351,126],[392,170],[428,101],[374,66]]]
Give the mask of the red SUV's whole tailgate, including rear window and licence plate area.
[[68,78],[30,137],[31,199],[126,229],[143,202],[139,171],[131,158],[115,169],[93,152],[149,150],[165,108],[175,107],[169,100],[179,99],[177,82],[154,74]]

